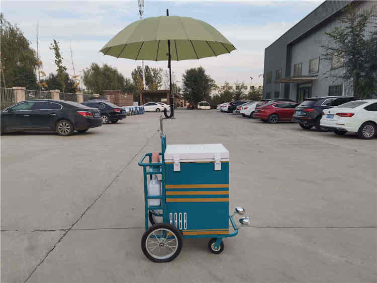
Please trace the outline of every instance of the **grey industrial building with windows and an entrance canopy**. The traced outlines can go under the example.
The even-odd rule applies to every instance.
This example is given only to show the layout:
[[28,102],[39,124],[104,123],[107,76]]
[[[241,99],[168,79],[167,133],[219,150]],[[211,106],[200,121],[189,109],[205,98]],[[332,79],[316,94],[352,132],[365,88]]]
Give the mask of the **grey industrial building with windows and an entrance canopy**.
[[[348,4],[370,10],[374,1],[325,1],[308,16],[269,45],[264,51],[263,98],[305,98],[327,95],[354,95],[347,82],[331,78],[341,72],[339,59],[323,59],[324,48],[332,45],[325,34],[341,26],[338,18]],[[374,19],[375,21],[375,19]],[[376,22],[368,25],[367,32]]]

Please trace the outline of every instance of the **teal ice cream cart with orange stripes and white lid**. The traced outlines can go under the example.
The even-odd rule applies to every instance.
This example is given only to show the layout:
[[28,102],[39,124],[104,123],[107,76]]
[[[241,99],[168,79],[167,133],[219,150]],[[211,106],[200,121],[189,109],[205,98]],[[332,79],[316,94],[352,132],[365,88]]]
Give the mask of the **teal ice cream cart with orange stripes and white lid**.
[[[229,215],[229,151],[222,144],[166,145],[162,121],[161,152],[154,160],[152,153],[144,154],[139,162],[145,202],[142,250],[152,261],[167,262],[180,253],[182,238],[205,237],[211,238],[210,251],[219,254],[222,239],[238,234],[233,216],[245,213],[236,207]],[[239,222],[249,225],[249,218]]]

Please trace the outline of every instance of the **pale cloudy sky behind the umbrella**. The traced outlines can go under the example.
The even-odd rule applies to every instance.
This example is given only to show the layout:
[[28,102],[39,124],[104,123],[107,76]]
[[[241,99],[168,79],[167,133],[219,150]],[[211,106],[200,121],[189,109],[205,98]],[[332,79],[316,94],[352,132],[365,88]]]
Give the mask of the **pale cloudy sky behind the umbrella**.
[[[219,85],[224,82],[262,84],[264,49],[318,7],[321,1],[148,1],[144,18],[166,15],[192,17],[219,30],[236,48],[230,54],[200,60],[172,61],[179,85],[184,70],[203,66]],[[104,56],[99,50],[120,30],[139,19],[134,1],[1,1],[1,12],[24,32],[39,52],[46,74],[56,73],[53,39],[59,42],[63,62],[73,75],[69,47],[73,50],[76,72],[92,62],[118,68],[127,78],[141,61]],[[166,69],[167,62],[145,61],[151,67]]]

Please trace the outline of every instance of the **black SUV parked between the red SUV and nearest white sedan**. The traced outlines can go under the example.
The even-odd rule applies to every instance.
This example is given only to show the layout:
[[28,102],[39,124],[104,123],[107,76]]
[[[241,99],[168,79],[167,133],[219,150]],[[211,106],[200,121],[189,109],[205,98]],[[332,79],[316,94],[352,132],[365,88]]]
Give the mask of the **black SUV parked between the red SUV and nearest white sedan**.
[[292,120],[299,123],[303,129],[310,129],[314,126],[317,130],[326,130],[325,128],[321,128],[320,125],[323,110],[353,100],[358,100],[358,98],[354,96],[323,96],[308,98],[297,106]]

